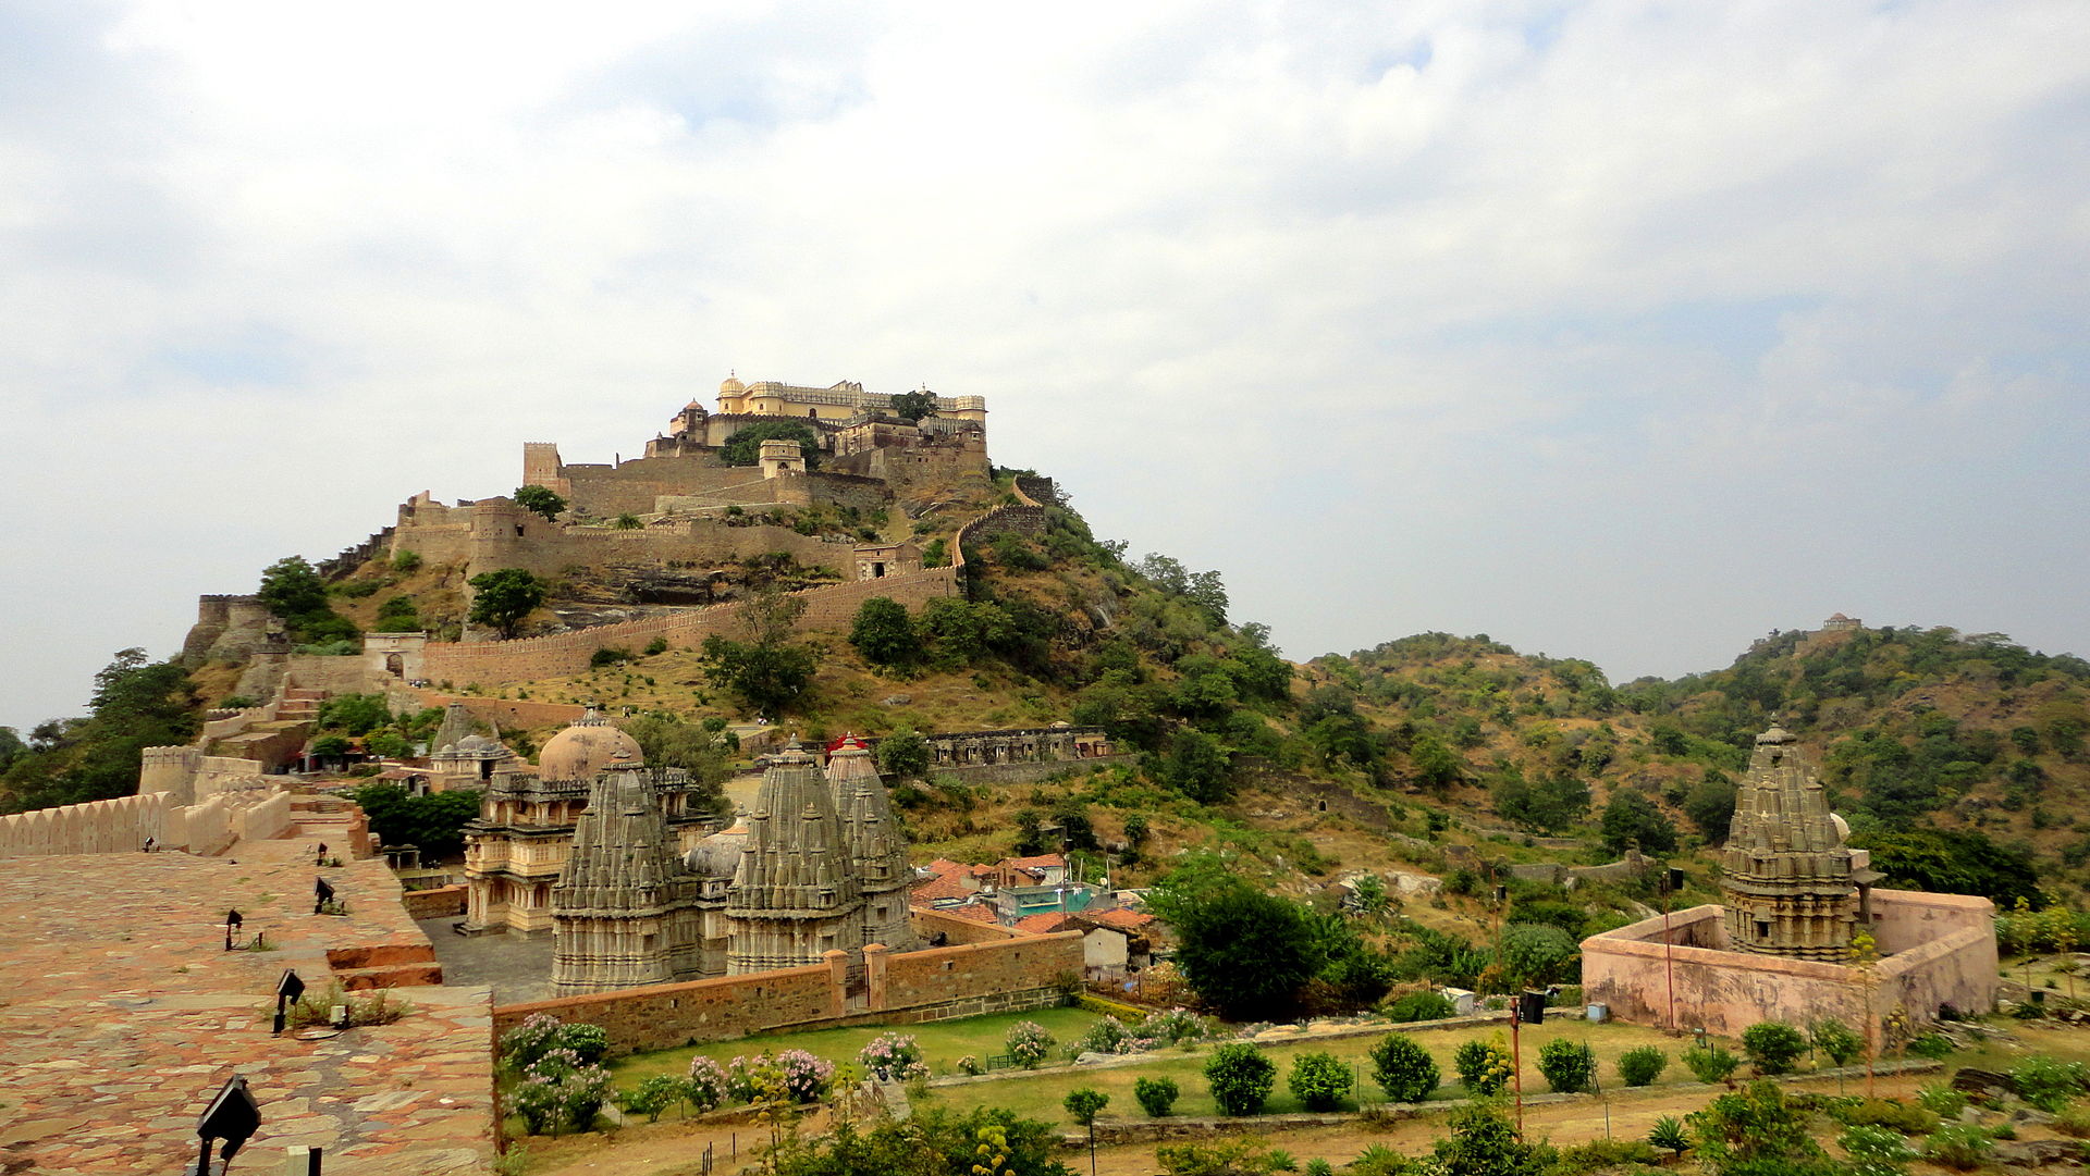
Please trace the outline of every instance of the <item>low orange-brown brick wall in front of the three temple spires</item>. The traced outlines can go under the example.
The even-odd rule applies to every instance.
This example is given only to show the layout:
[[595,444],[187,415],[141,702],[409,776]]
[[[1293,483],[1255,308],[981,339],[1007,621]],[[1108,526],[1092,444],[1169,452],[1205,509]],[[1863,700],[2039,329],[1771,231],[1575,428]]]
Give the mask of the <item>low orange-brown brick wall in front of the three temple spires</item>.
[[[872,952],[878,955],[878,952]],[[823,963],[493,1009],[493,1036],[525,1017],[600,1026],[610,1055],[855,1024],[924,1024],[1062,1001],[1051,980],[1081,973],[1081,936],[1018,936],[867,961],[867,992],[851,998],[846,969]],[[884,975],[880,975],[884,973]]]

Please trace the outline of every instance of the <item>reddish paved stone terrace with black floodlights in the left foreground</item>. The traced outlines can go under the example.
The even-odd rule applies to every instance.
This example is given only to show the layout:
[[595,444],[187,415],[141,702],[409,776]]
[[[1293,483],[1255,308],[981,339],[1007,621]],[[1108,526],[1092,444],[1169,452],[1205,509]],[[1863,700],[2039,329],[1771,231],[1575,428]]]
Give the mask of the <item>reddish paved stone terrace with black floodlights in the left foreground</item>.
[[[234,1163],[326,1149],[330,1176],[485,1172],[487,988],[397,988],[412,1013],[330,1040],[270,1036],[276,978],[426,975],[428,940],[380,861],[318,871],[316,838],[228,856],[84,854],[0,871],[0,1172],[182,1172],[196,1115],[232,1074],[261,1103]],[[314,875],[347,917],[311,913]],[[236,907],[280,950],[226,952]],[[401,965],[401,961],[405,961]]]

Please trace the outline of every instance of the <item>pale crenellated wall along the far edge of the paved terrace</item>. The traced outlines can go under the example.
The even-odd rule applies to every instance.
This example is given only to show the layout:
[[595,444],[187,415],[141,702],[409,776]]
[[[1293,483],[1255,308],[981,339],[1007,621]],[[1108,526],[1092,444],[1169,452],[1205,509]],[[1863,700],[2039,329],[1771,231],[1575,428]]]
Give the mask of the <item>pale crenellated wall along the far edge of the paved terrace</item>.
[[134,854],[153,838],[163,850],[217,854],[238,840],[270,840],[291,831],[291,794],[265,800],[213,796],[173,804],[171,794],[146,792],[63,808],[0,817],[0,859],[56,854]]

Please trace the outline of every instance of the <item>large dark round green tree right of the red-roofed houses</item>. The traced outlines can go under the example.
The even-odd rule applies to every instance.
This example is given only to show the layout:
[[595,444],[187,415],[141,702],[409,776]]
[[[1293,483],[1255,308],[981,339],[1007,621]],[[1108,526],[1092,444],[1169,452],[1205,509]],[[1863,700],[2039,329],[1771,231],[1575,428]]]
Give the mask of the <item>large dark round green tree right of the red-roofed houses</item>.
[[1306,911],[1195,856],[1156,886],[1150,909],[1177,936],[1177,967],[1206,1003],[1237,1021],[1279,1019],[1327,963]]

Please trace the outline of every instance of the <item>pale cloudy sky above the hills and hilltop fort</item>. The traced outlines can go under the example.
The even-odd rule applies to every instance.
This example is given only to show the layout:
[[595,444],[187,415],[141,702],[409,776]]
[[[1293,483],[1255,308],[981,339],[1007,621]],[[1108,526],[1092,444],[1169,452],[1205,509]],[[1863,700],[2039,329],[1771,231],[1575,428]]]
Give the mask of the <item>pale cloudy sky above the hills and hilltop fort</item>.
[[0,725],[719,380],[1294,658],[2090,654],[2090,6],[0,0]]

